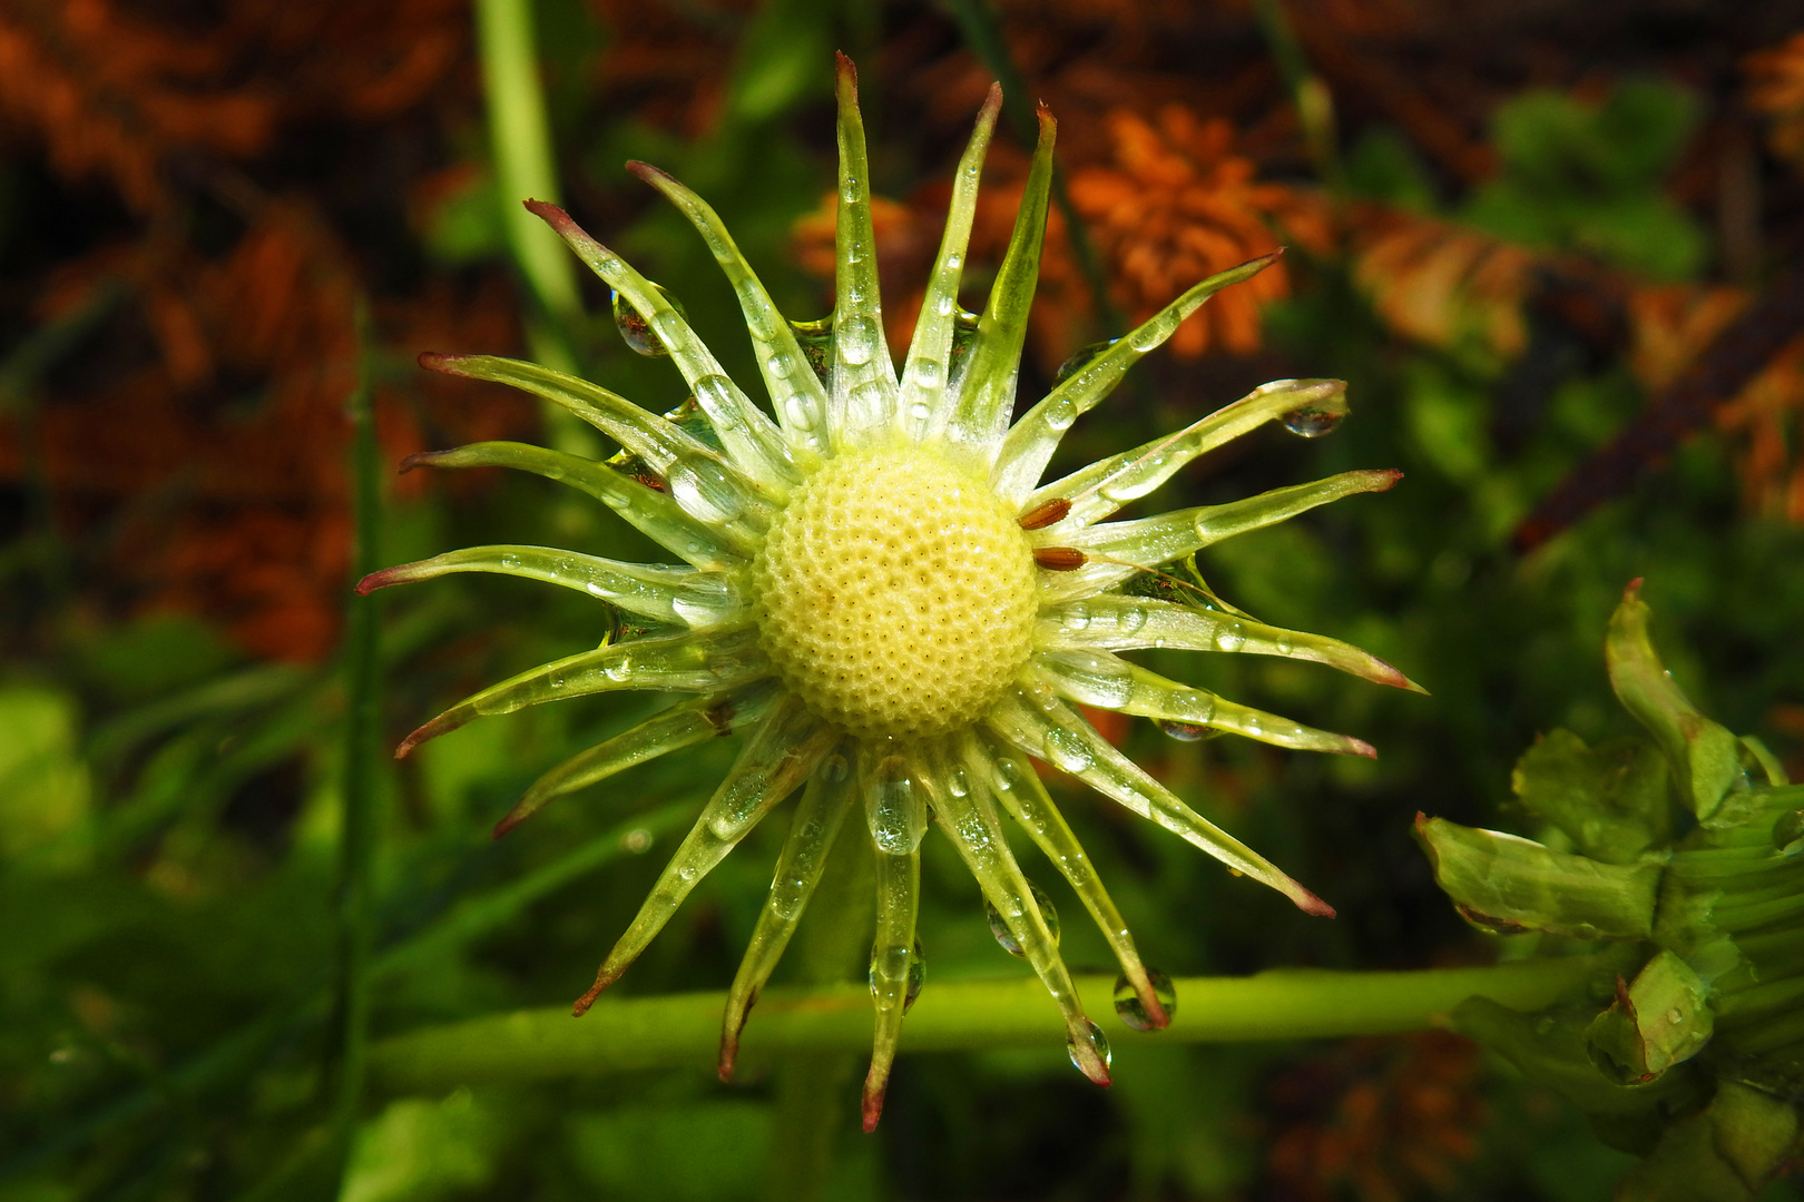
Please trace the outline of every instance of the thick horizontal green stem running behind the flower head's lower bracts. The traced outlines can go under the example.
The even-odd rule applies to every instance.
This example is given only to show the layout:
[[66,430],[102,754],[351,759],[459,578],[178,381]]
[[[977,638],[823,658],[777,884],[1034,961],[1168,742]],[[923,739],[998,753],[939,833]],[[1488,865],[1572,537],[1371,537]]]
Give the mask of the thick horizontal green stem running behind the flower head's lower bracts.
[[[1398,1034],[1443,1025],[1452,1007],[1472,995],[1539,1009],[1602,971],[1598,957],[1568,957],[1407,973],[1279,970],[1239,979],[1191,977],[1176,982],[1180,1007],[1169,1029],[1142,1034],[1113,1016],[1104,1025],[1120,1047]],[[1106,998],[1113,979],[1081,977],[1077,986],[1084,997]],[[723,1002],[723,993],[610,995],[583,1020],[554,1007],[426,1027],[372,1049],[372,1083],[406,1094],[630,1069],[705,1069],[720,1043]],[[741,1063],[851,1051],[870,1038],[870,989],[772,989],[745,1027]],[[1063,1042],[1064,1024],[1032,977],[929,986],[902,1025],[902,1049],[913,1052]]]

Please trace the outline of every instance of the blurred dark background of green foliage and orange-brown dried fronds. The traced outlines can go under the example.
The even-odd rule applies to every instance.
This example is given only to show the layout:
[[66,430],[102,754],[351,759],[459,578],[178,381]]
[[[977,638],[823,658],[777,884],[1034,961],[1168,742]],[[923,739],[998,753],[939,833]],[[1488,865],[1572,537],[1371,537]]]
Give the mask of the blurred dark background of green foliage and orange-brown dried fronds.
[[[1339,921],[1073,800],[1149,962],[1201,975],[1494,959],[1496,941],[1434,888],[1409,822],[1427,809],[1510,827],[1510,766],[1537,732],[1629,728],[1600,643],[1633,577],[1687,692],[1804,775],[1793,5],[478,9],[0,7],[5,1202],[308,1197],[305,1166],[334,1130],[341,802],[357,746],[341,670],[348,398],[370,382],[384,463],[581,436],[545,431],[523,396],[417,371],[422,350],[530,351],[657,411],[682,400],[675,371],[621,344],[597,281],[534,258],[543,249],[514,225],[525,186],[561,191],[749,378],[731,290],[621,162],[700,191],[788,315],[824,314],[835,47],[861,67],[898,332],[989,81],[1059,117],[1064,196],[1026,400],[1081,344],[1290,247],[1079,423],[1061,463],[1266,378],[1328,375],[1351,382],[1355,405],[1333,438],[1245,438],[1155,505],[1353,467],[1407,474],[1393,494],[1227,542],[1201,568],[1261,620],[1369,647],[1432,697],[1288,661],[1167,665],[1367,739],[1376,762],[1106,732]],[[536,59],[536,77],[509,74],[511,27],[534,34],[516,65]],[[550,159],[536,164],[538,96]],[[978,287],[1025,169],[1025,146],[999,135]],[[377,560],[489,541],[651,555],[545,481],[422,476],[384,470]],[[474,687],[594,645],[608,620],[574,595],[471,577],[382,600],[386,744]],[[384,757],[370,811],[373,1038],[581,991],[723,750],[639,769],[502,843],[489,827],[539,771],[642,710],[590,697]],[[729,858],[619,989],[723,988],[776,843],[763,831]],[[994,946],[969,878],[927,847],[927,988],[1025,973]],[[1086,928],[1064,932],[1073,968],[1108,962]],[[783,1157],[776,1088],[722,1087],[709,1067],[370,1096],[341,1197],[759,1197]],[[873,1137],[850,1130],[848,1083],[828,1197],[1582,1202],[1629,1162],[1452,1034],[1135,1049],[1115,1078],[1097,1092],[1055,1051],[904,1056]]]

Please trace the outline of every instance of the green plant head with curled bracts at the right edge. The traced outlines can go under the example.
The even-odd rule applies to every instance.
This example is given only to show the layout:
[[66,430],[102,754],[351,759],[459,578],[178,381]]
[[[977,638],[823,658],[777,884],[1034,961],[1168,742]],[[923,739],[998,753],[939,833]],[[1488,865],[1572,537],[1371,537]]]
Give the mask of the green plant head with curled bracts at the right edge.
[[1647,618],[1636,580],[1606,642],[1647,733],[1588,748],[1557,730],[1517,764],[1541,842],[1425,816],[1416,834],[1481,930],[1618,950],[1613,986],[1530,1015],[1472,998],[1458,1027],[1645,1157],[1618,1198],[1737,1202],[1804,1135],[1804,788],[1698,712]]

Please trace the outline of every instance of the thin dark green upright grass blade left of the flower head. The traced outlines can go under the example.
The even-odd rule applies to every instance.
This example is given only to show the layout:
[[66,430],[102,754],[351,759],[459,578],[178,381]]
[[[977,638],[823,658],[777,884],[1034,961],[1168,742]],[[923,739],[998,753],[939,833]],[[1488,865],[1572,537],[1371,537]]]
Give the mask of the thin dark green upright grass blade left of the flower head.
[[[381,449],[370,396],[370,315],[357,310],[357,384],[346,409],[352,423],[352,510],[357,532],[352,578],[381,566],[382,521]],[[370,959],[375,944],[372,865],[375,860],[375,795],[382,762],[381,625],[377,596],[352,595],[345,624],[345,802],[339,831],[339,991],[337,991],[337,1097],[332,1152],[337,1175],[350,1155],[363,1108],[370,1025]],[[336,1191],[334,1191],[336,1193]]]

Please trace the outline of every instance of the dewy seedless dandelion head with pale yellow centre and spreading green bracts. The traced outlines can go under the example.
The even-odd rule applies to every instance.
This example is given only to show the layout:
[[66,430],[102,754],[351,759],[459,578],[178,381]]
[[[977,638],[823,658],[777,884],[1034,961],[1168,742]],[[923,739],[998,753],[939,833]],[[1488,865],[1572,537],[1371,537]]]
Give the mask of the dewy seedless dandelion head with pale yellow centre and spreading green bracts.
[[[1299,434],[1346,411],[1339,380],[1279,380],[1196,423],[1041,483],[1064,431],[1122,373],[1214,292],[1266,256],[1205,279],[1066,375],[1010,425],[1052,182],[1052,117],[1007,258],[981,315],[958,285],[985,148],[992,88],[958,166],[951,216],[902,369],[891,362],[877,287],[871,191],[851,65],[839,67],[837,303],[832,323],[797,326],[740,256],[714,211],[667,175],[631,164],[695,223],[738,294],[770,413],[696,339],[682,310],[563,211],[545,218],[617,296],[630,341],[667,355],[693,400],[658,416],[604,387],[534,364],[428,355],[438,371],[548,398],[621,445],[606,463],[478,443],[420,456],[438,467],[502,465],[574,485],[657,539],[678,566],[628,564],[536,546],[451,551],[368,577],[368,591],[455,571],[500,571],[581,589],[626,615],[628,636],[530,669],[446,710],[406,739],[594,692],[695,694],[548,771],[502,822],[648,759],[743,733],[738,760],[707,800],[631,926],[608,953],[581,1015],[669,921],[689,890],[790,793],[770,897],[732,982],[720,1070],[815,892],[848,813],[875,858],[870,982],[877,1040],[866,1126],[877,1123],[902,1015],[922,980],[915,939],[920,840],[929,816],[976,876],[999,937],[1032,964],[1064,1013],[1072,1060],[1108,1083],[1108,1045],[1057,952],[1057,924],[1003,834],[1008,815],[1064,874],[1122,966],[1124,1006],[1142,1025],[1169,1020],[1162,977],[1142,966],[1126,923],[1041,786],[1045,759],[1128,809],[1281,892],[1333,914],[1263,856],[1205,822],[1086,723],[1077,705],[1207,726],[1277,746],[1371,755],[1358,739],[1299,726],[1165,679],[1118,652],[1142,647],[1313,660],[1413,687],[1387,663],[1331,638],[1281,631],[1200,587],[1146,587],[1160,564],[1284,521],[1396,472],[1346,472],[1247,501],[1108,523],[1200,454],[1274,418]],[[1133,586],[1133,587],[1129,587]],[[853,824],[857,825],[857,824]]]

